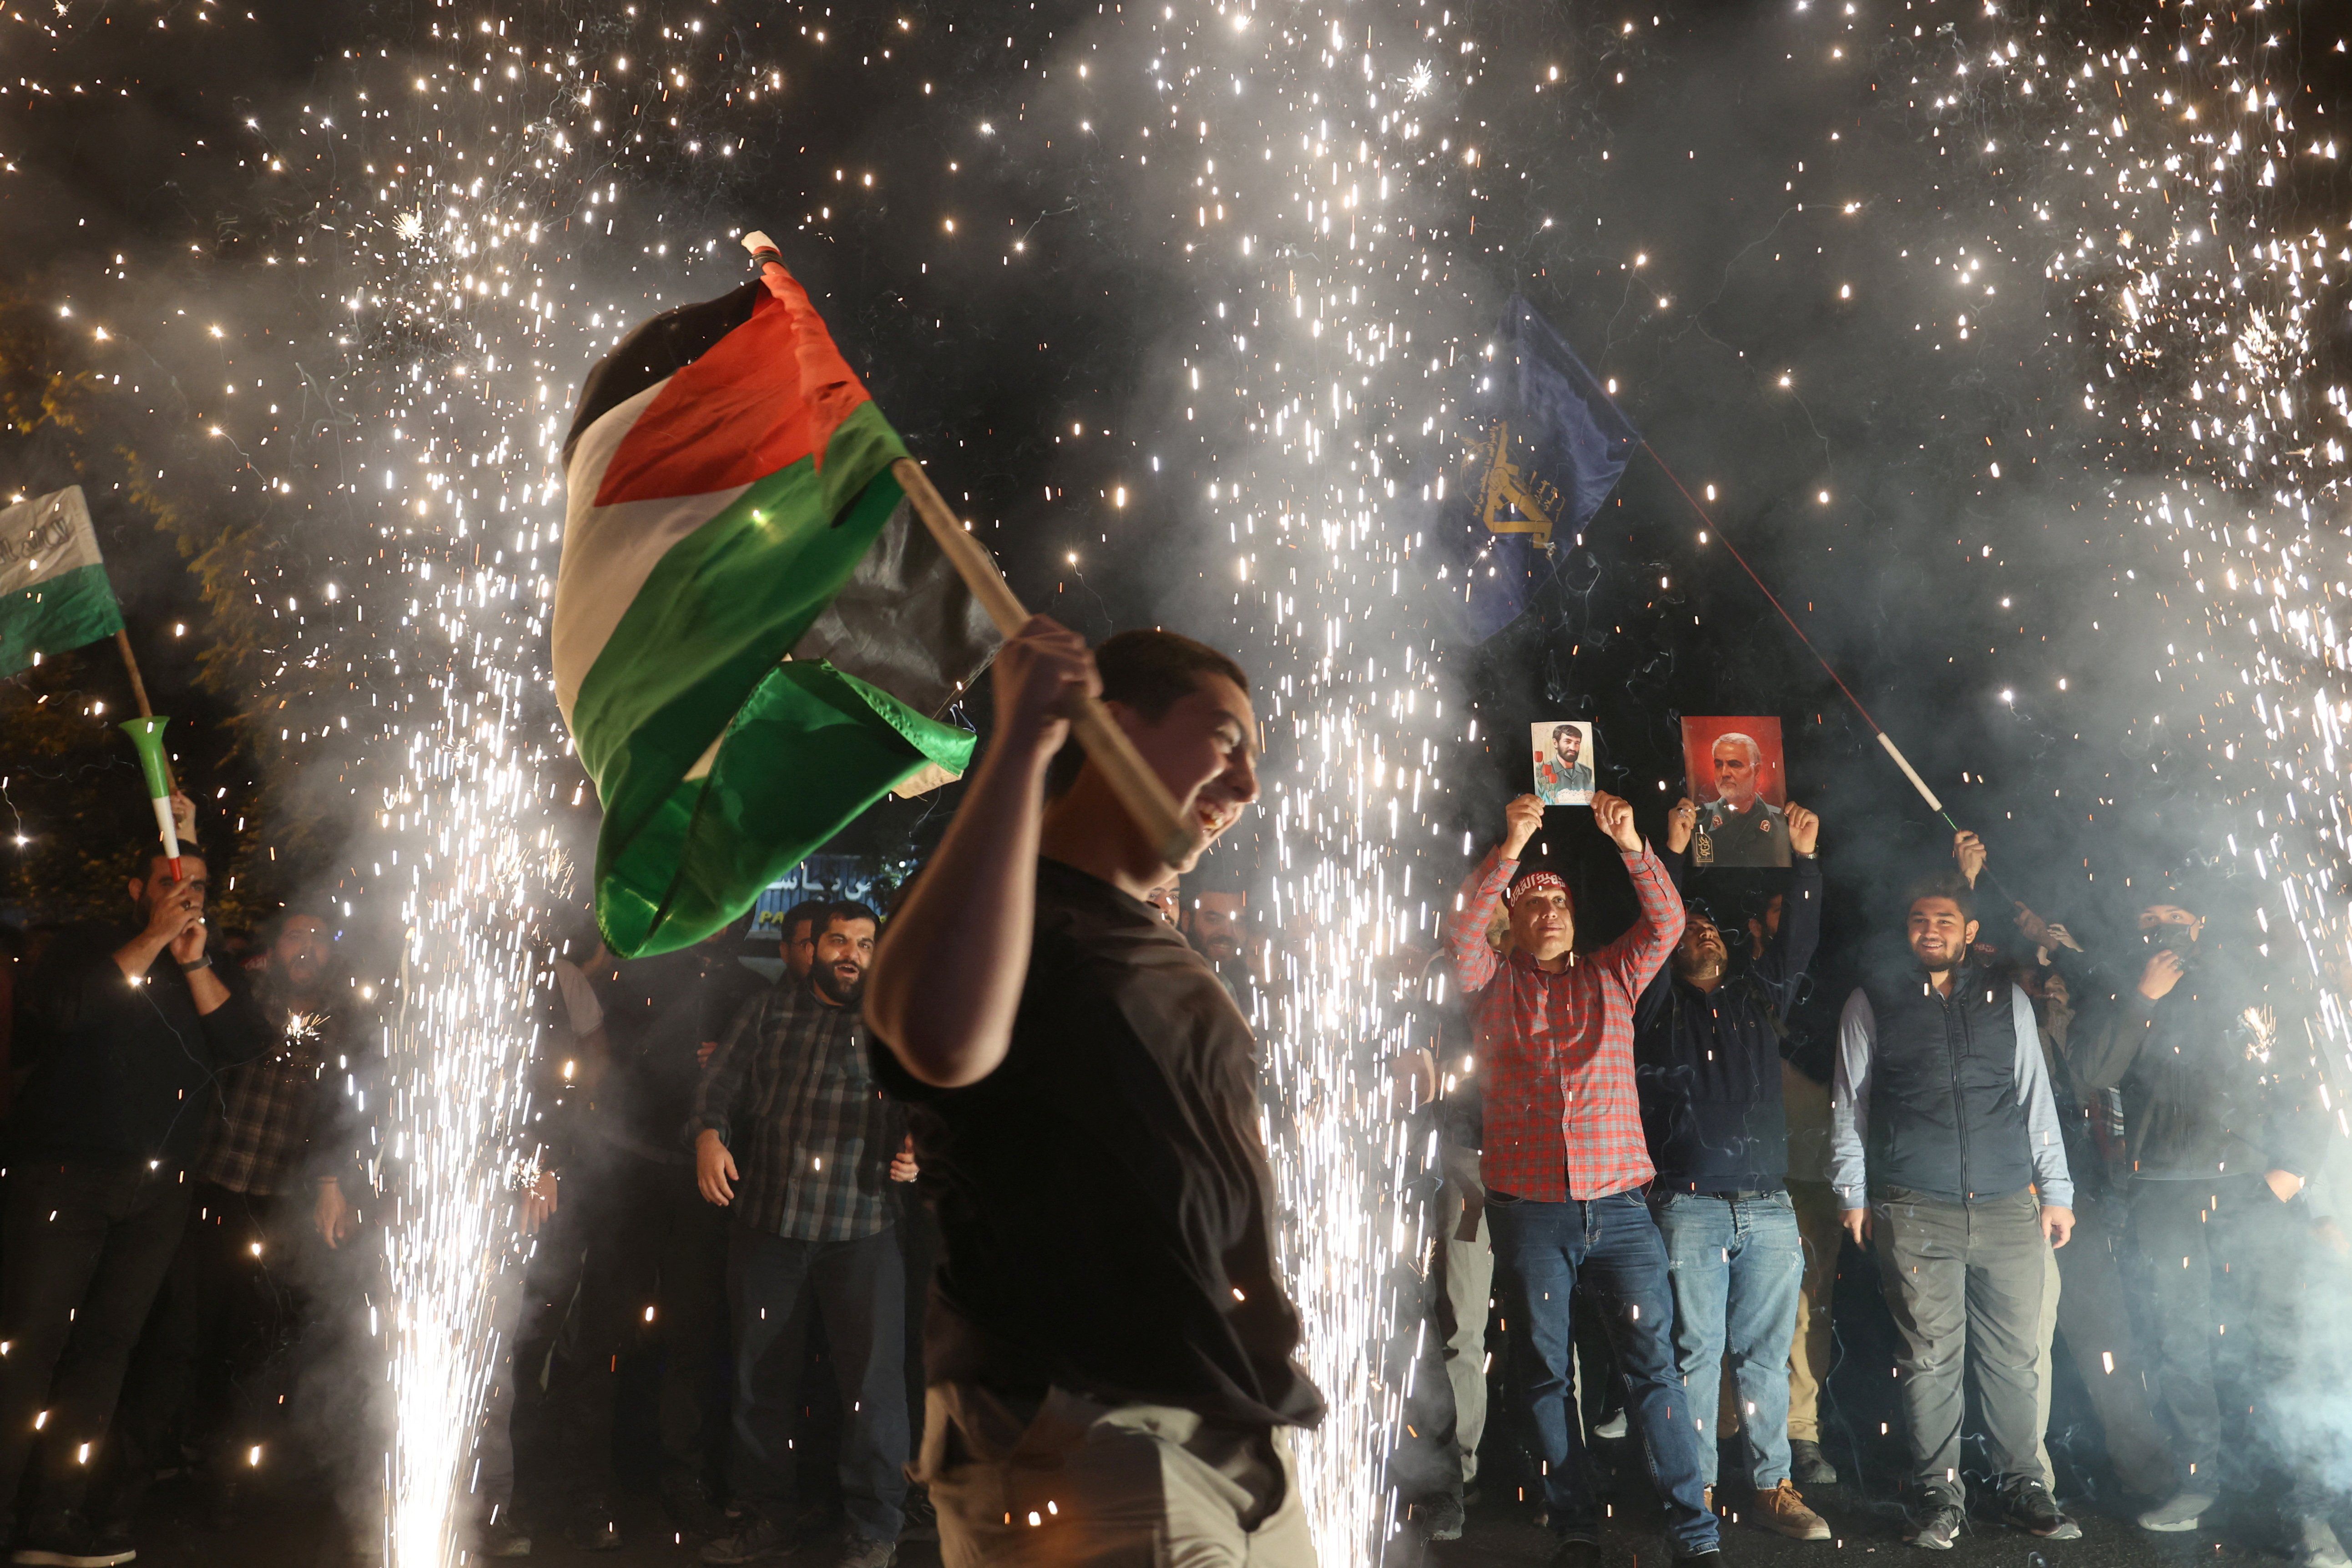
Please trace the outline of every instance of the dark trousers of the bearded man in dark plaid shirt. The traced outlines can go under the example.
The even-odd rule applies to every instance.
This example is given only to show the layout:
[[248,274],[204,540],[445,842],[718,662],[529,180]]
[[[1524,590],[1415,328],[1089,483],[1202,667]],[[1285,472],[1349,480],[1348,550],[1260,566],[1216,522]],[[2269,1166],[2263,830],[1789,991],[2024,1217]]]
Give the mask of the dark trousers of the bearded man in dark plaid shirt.
[[842,1392],[842,1505],[870,1540],[906,1523],[906,1262],[898,1237],[790,1241],[736,1225],[727,1239],[736,1342],[734,1490],[771,1519],[793,1507],[793,1415],[814,1312]]

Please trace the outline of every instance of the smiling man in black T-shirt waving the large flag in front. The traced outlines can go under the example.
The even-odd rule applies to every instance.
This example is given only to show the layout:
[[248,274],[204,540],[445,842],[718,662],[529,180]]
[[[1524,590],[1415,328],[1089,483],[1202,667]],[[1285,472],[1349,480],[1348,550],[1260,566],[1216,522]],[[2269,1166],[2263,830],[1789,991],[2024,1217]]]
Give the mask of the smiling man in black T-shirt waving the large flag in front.
[[1098,693],[1214,842],[1258,797],[1242,668],[1033,618],[866,1011],[943,1253],[920,1476],[948,1568],[1315,1561],[1287,1427],[1322,1418],[1275,1276],[1254,1041],[1145,903],[1178,872],[1068,741]]

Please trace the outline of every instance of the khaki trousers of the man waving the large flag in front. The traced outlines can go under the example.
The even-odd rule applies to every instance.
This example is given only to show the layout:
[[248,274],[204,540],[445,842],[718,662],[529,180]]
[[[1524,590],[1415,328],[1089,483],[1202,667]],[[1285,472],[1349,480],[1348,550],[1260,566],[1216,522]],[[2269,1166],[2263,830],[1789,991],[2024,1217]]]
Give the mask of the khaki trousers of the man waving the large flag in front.
[[946,1568],[1315,1568],[1279,1427],[1065,1389],[1023,1420],[978,1385],[934,1382],[915,1479]]

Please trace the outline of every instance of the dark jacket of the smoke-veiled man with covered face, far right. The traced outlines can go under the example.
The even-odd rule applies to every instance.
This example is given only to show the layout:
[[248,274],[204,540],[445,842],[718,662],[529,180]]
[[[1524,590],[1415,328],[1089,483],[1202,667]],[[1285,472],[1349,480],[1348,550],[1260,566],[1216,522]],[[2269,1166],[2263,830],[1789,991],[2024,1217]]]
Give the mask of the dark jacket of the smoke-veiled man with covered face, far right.
[[2131,1171],[2150,1180],[2260,1175],[2310,1178],[2326,1150],[2326,1114],[2312,1088],[2300,1027],[2274,1030],[2265,1051],[2244,1011],[2270,1001],[2232,985],[2216,954],[2194,954],[2161,1001],[2138,971],[2077,1025],[2074,1079],[2124,1091]]

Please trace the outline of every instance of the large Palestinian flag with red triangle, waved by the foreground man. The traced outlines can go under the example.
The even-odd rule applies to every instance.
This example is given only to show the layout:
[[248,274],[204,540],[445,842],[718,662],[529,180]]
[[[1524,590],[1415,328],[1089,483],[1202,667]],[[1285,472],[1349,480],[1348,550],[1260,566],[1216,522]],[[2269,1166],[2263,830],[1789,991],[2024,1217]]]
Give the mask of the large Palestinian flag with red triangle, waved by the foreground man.
[[997,632],[891,477],[903,456],[781,268],[588,374],[553,663],[604,804],[616,954],[699,943],[889,790],[971,762],[943,715]]

